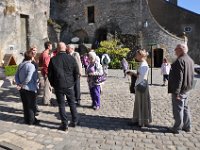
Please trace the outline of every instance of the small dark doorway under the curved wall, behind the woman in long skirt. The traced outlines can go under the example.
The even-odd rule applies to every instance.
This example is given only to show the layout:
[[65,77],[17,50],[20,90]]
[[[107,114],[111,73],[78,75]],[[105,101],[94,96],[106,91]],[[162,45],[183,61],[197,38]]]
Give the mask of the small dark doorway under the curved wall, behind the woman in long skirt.
[[161,48],[154,49],[153,58],[154,58],[154,67],[161,67],[163,62],[164,50]]

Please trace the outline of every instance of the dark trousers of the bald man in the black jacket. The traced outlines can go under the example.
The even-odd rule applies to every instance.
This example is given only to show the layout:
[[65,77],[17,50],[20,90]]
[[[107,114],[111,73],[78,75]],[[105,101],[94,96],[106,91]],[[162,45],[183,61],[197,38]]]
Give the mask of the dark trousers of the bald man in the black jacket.
[[75,104],[74,86],[68,89],[64,89],[62,91],[55,89],[55,94],[57,97],[58,108],[59,108],[62,124],[63,125],[68,124],[67,113],[65,111],[65,97],[64,97],[65,95],[67,97],[67,102],[70,107],[72,122],[77,122],[78,118],[77,118],[77,110],[76,110],[76,104]]

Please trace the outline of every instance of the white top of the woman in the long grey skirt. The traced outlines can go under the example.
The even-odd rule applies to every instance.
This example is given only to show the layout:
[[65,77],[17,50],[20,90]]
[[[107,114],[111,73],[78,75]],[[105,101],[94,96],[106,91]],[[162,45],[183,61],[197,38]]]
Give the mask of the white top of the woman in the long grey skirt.
[[147,80],[148,72],[149,72],[148,63],[146,61],[142,61],[140,63],[140,67],[138,68],[137,72],[138,72],[138,77],[137,77],[137,80],[135,82],[135,86],[137,86],[143,80]]

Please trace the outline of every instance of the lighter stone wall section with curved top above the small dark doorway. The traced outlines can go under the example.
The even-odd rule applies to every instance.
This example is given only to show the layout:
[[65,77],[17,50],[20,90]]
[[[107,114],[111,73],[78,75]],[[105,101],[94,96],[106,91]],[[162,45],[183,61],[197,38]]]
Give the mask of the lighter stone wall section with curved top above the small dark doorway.
[[165,30],[154,18],[151,10],[147,5],[147,1],[143,1],[143,15],[148,22],[148,27],[143,27],[143,47],[150,51],[151,46],[153,49],[162,48],[165,49],[165,56],[170,60],[175,59],[174,48],[179,43],[184,43],[183,38],[179,38],[169,31]]

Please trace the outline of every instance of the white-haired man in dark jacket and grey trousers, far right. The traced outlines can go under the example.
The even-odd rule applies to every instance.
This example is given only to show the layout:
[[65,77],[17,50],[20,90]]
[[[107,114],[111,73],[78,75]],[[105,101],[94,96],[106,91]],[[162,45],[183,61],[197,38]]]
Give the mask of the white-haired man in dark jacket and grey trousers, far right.
[[194,62],[187,54],[186,44],[178,44],[175,48],[176,61],[171,65],[168,82],[168,93],[172,94],[174,126],[172,133],[180,130],[191,131],[191,118],[188,106],[188,92],[193,86]]

